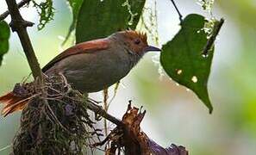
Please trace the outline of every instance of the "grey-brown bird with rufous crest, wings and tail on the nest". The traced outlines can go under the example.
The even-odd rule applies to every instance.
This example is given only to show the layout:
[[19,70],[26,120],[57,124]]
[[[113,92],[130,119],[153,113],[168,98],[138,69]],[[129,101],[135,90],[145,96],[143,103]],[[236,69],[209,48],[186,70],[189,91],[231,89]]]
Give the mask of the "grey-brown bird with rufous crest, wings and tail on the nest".
[[[47,76],[62,75],[72,89],[91,93],[107,89],[120,81],[147,52],[160,48],[147,44],[147,34],[134,30],[119,31],[106,38],[78,43],[59,53],[42,72]],[[9,92],[0,96],[5,106],[2,115],[22,110],[27,97]]]

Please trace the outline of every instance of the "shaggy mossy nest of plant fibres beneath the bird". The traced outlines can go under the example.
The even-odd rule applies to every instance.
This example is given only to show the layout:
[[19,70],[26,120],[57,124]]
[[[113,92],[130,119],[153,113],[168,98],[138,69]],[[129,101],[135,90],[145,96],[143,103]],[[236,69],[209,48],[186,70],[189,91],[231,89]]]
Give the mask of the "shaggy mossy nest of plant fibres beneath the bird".
[[[71,90],[64,78],[46,81],[46,88],[36,83],[16,84],[16,93],[33,97],[22,110],[12,154],[77,155],[83,154],[84,148],[92,149],[95,135],[100,136],[101,131],[87,112],[86,96]],[[37,93],[41,89],[44,95]]]

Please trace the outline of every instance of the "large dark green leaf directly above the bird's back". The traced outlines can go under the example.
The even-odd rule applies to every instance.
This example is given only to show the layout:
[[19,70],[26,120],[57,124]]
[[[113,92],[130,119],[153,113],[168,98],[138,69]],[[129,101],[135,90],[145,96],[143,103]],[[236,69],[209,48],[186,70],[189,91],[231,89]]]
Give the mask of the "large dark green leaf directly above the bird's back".
[[85,0],[76,27],[77,43],[136,28],[145,0]]

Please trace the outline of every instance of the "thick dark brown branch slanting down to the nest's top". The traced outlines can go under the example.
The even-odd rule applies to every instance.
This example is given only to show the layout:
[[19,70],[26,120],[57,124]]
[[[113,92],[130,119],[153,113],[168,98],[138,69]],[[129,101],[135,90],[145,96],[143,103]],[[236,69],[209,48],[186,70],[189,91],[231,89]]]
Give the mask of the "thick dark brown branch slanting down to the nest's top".
[[28,32],[27,32],[27,27],[32,27],[34,23],[25,21],[22,18],[22,15],[20,14],[20,11],[18,9],[16,0],[5,0],[5,1],[8,5],[9,14],[11,16],[11,22],[9,26],[13,32],[16,31],[16,33],[18,34],[21,40],[22,47],[28,59],[28,64],[30,66],[34,79],[38,77],[41,83],[42,81],[41,68],[38,63],[38,60],[35,57],[34,49],[28,37]]

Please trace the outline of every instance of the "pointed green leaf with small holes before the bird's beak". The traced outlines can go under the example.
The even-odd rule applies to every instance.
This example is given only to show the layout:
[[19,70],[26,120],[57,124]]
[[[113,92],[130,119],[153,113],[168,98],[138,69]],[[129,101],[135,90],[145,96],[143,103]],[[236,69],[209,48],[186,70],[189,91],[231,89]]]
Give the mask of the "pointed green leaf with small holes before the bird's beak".
[[202,30],[205,22],[202,15],[187,15],[178,34],[163,46],[160,62],[166,73],[178,84],[193,90],[211,113],[207,83],[214,47],[203,57],[207,44],[207,34]]

